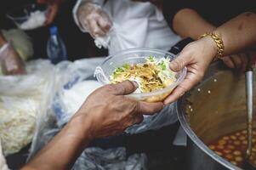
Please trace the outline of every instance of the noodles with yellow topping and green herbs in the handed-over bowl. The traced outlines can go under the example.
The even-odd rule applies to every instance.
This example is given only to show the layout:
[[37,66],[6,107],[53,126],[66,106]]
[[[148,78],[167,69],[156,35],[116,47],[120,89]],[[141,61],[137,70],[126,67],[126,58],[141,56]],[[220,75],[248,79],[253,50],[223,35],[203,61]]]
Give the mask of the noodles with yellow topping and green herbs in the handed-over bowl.
[[138,93],[149,93],[167,88],[177,80],[177,73],[171,71],[169,58],[156,59],[154,56],[146,58],[145,63],[124,64],[112,73],[111,83],[126,80],[137,82]]

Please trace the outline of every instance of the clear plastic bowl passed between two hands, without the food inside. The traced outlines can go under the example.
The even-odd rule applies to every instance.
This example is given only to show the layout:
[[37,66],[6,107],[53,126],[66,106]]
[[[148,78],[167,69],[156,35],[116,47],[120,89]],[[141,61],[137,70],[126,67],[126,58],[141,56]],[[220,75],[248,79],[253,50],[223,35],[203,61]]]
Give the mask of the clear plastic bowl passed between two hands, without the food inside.
[[[148,58],[150,55],[153,55],[156,59],[161,59],[163,57],[170,58],[171,60],[174,59],[175,55],[170,54],[168,52],[154,49],[154,48],[131,48],[128,50],[123,50],[120,53],[111,55],[105,59],[105,61],[99,65],[95,72],[94,76],[97,77],[98,81],[102,84],[109,84],[111,83],[110,76],[117,69],[117,67],[122,66],[123,64],[138,64],[138,63],[145,63],[145,59]],[[165,99],[169,94],[172,93],[174,88],[176,88],[180,82],[182,82],[186,75],[186,68],[182,71],[178,72],[177,80],[167,88],[162,88],[156,90],[151,93],[145,94],[129,94],[128,96],[142,100],[147,102],[157,102],[162,101]]]

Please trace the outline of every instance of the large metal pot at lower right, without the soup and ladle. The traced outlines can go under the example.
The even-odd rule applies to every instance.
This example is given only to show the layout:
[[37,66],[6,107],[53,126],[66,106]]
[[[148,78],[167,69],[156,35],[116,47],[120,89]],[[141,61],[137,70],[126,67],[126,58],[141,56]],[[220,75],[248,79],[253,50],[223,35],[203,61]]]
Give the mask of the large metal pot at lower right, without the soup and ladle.
[[[255,81],[256,78],[254,84]],[[256,86],[253,88],[256,92]],[[253,100],[256,101],[255,93]],[[253,110],[256,111],[255,104]],[[204,80],[179,99],[178,116],[188,136],[186,170],[241,170],[209,150],[206,144],[246,128],[244,74],[228,70],[219,62],[214,63]]]

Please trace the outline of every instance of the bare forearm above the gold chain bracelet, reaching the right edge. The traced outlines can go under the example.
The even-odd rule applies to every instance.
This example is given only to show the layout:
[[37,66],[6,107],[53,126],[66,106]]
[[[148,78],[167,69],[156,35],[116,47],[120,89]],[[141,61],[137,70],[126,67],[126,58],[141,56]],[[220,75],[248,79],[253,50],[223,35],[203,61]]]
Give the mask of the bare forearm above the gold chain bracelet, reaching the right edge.
[[224,56],[256,45],[256,14],[244,13],[219,26],[213,33],[222,37]]

